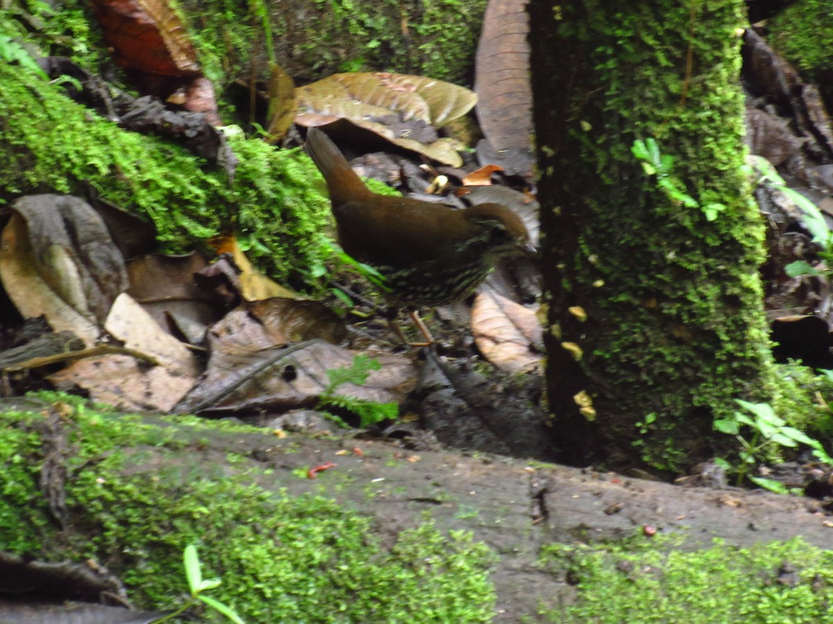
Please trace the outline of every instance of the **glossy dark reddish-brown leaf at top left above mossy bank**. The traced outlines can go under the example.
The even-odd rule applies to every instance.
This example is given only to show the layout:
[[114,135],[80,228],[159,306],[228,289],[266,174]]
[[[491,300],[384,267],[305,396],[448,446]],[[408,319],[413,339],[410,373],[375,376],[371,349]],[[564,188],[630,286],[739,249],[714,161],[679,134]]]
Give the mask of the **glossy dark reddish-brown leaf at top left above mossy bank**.
[[200,72],[197,52],[170,2],[92,0],[92,6],[119,66],[160,76]]

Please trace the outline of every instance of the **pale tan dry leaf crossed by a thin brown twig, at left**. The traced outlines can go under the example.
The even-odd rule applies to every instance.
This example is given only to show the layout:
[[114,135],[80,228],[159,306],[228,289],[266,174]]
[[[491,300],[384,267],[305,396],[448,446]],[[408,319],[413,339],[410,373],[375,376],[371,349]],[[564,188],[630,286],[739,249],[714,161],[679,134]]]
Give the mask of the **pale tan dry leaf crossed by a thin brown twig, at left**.
[[105,327],[127,349],[160,365],[148,367],[130,355],[82,359],[47,378],[57,389],[80,387],[92,399],[118,409],[167,412],[192,388],[199,375],[193,354],[129,295],[118,297]]

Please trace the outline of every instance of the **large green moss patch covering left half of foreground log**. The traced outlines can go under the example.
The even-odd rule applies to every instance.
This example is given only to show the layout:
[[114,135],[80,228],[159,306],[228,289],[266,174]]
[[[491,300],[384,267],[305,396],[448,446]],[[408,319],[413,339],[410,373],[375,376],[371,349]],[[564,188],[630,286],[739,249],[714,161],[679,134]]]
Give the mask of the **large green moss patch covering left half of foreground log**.
[[[0,414],[6,550],[93,558],[116,572],[143,607],[173,607],[182,599],[182,549],[193,543],[204,575],[222,577],[212,597],[251,622],[491,619],[494,555],[469,534],[443,535],[423,522],[384,549],[372,518],[332,500],[266,492],[242,463],[230,472],[197,454],[193,463],[182,463],[182,454],[172,458],[159,446],[159,425],[92,411],[74,399],[55,409],[72,453],[66,492],[73,528],[58,537],[37,492],[43,414]],[[213,428],[192,418],[168,421],[163,438],[182,436],[183,427]]]

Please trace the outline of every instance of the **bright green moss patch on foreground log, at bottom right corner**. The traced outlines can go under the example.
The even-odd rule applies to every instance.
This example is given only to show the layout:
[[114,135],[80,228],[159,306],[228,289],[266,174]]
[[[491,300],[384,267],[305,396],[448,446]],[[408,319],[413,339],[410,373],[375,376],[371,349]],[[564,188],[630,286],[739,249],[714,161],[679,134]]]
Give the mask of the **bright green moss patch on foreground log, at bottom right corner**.
[[[549,622],[833,622],[833,552],[801,538],[749,548],[670,550],[644,537],[546,547],[542,562],[576,586]],[[791,572],[794,571],[794,572]]]

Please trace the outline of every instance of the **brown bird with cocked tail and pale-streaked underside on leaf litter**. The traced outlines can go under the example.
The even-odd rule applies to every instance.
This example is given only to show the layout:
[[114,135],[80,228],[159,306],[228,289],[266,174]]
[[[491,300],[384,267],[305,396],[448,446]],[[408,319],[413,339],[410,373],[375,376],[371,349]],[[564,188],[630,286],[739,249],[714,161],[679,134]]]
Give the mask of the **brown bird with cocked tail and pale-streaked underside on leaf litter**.
[[375,193],[317,127],[307,131],[306,149],[327,181],[342,250],[383,276],[389,319],[399,310],[411,312],[429,343],[433,339],[416,310],[463,300],[498,260],[535,252],[526,225],[506,206],[456,209]]

